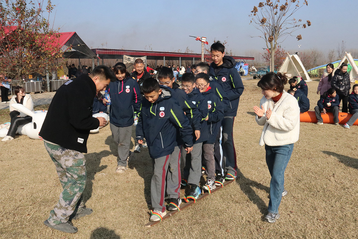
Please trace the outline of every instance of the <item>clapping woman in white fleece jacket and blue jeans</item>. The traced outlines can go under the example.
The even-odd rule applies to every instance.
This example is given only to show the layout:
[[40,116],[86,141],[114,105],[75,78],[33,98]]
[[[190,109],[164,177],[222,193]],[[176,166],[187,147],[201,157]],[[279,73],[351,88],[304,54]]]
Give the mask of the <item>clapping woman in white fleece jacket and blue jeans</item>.
[[271,175],[269,213],[263,219],[275,223],[284,189],[284,173],[294,143],[300,134],[300,108],[294,96],[284,91],[286,75],[267,73],[257,83],[262,89],[260,107],[254,106],[256,122],[263,125],[260,145],[265,145],[266,164]]

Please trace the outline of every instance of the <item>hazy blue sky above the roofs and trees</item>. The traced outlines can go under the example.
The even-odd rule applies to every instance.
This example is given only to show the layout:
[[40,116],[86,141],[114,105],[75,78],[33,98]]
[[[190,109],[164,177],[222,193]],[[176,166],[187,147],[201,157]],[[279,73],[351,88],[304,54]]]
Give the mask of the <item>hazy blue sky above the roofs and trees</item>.
[[[261,0],[263,1],[263,0]],[[57,5],[51,19],[62,32],[77,32],[92,48],[177,51],[187,47],[196,53],[200,43],[189,35],[227,40],[228,49],[243,56],[261,51],[264,40],[251,38],[260,32],[249,25],[253,5],[260,1],[127,1],[127,0],[52,0]],[[281,0],[281,2],[283,2]],[[302,3],[303,1],[300,1]],[[308,0],[294,15],[312,25],[299,29],[303,39],[287,38],[281,46],[296,51],[318,48],[336,49],[344,40],[347,49],[357,48],[357,2],[355,0]],[[102,47],[102,43],[104,43]]]

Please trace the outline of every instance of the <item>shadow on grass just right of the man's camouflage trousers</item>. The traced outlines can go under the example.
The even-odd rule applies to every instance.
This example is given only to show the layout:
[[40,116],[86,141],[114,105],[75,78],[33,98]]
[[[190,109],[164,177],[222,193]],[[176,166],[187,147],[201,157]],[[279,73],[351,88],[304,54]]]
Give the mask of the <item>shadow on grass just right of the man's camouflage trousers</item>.
[[88,153],[86,154],[86,171],[87,171],[87,180],[86,187],[84,188],[82,194],[82,200],[86,204],[88,199],[92,196],[93,190],[93,180],[95,179],[95,175],[98,172],[101,172],[103,169],[107,168],[107,165],[100,166],[101,159],[110,155],[111,152],[108,150],[103,150],[100,153]]

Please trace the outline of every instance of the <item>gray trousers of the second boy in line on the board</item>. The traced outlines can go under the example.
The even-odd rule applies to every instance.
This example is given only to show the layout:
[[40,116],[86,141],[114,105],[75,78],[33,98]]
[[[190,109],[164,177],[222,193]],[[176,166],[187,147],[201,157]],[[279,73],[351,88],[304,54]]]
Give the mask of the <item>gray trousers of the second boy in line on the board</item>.
[[194,144],[192,152],[187,154],[187,150],[182,147],[182,161],[184,164],[183,178],[188,183],[199,186],[201,173],[203,143]]

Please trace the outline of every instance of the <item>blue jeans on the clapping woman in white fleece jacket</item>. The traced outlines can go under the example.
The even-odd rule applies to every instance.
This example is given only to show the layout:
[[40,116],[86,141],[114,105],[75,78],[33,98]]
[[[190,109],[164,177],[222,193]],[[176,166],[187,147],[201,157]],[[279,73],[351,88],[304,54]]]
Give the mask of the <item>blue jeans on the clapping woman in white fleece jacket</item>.
[[269,212],[279,212],[284,191],[285,169],[291,158],[293,145],[269,146],[265,144],[266,164],[271,175]]

